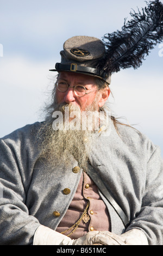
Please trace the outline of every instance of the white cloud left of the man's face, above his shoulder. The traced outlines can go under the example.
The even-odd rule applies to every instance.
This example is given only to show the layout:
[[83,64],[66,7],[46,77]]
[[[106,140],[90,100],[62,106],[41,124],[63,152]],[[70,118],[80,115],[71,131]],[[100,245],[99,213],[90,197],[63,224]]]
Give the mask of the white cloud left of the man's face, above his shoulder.
[[51,62],[32,62],[22,57],[1,59],[0,137],[37,121],[40,108],[52,88]]

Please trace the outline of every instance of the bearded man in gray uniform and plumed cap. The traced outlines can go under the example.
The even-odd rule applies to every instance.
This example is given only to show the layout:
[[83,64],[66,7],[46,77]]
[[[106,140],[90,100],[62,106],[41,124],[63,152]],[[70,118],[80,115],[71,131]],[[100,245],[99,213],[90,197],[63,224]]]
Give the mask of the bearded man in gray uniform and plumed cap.
[[[154,1],[146,11],[158,9]],[[111,57],[97,38],[68,39],[52,70],[58,76],[46,120],[1,139],[1,245],[163,244],[160,149],[119,123],[106,104],[110,75],[127,65],[117,47]],[[140,45],[131,48],[140,64]],[[128,51],[128,67],[132,58]]]

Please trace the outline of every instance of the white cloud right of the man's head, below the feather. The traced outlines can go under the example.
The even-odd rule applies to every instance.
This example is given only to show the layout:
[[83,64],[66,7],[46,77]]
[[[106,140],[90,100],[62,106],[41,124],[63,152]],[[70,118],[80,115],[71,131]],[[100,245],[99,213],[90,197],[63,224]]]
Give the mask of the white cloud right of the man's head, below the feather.
[[[156,70],[149,72],[124,70],[112,76],[111,108],[117,117],[125,117],[129,124],[145,133],[163,153],[163,88],[162,74]],[[163,156],[163,154],[162,154]]]

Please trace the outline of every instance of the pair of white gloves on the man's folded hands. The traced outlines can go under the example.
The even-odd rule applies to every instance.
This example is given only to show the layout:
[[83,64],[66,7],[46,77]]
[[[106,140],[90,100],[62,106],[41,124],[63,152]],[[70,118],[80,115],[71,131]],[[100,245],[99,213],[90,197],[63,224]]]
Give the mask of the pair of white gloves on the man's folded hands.
[[[102,245],[144,245],[147,242],[146,236],[141,230],[137,229],[138,233],[140,231],[139,234],[137,230],[131,233],[132,230],[123,235],[115,235],[109,231],[90,231],[86,235],[73,240],[57,231],[40,225],[34,234],[33,245],[93,245],[95,243],[101,243]],[[139,238],[135,239],[135,235]],[[136,243],[134,243],[135,241]]]

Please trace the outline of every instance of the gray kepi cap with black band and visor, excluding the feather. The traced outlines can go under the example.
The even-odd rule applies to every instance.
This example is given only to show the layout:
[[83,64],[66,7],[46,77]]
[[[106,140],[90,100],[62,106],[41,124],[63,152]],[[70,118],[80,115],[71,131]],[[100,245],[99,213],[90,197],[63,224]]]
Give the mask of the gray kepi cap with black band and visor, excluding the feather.
[[61,63],[49,71],[70,71],[101,78],[110,84],[111,78],[97,64],[105,56],[105,46],[101,40],[92,36],[73,36],[64,43],[60,52]]

